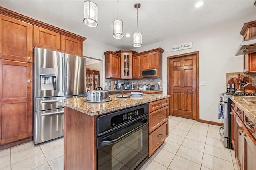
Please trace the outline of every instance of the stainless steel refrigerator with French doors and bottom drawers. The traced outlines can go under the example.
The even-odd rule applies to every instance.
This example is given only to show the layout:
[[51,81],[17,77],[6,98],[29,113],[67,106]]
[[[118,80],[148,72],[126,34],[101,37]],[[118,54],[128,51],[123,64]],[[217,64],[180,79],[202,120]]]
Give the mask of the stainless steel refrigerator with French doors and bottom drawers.
[[34,48],[34,143],[63,136],[58,100],[85,94],[85,58]]

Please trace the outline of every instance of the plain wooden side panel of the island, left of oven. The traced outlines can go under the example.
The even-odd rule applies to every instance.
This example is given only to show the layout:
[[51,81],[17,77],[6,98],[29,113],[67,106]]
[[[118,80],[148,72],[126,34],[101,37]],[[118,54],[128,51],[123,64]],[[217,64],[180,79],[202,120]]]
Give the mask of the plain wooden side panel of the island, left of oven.
[[95,117],[64,107],[64,170],[96,170]]

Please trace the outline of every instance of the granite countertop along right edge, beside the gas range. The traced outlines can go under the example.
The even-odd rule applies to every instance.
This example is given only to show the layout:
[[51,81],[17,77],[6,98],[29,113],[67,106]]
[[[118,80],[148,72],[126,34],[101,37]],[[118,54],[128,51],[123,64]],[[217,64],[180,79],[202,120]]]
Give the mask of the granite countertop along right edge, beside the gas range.
[[256,97],[230,96],[230,99],[256,123],[256,104],[252,103],[252,101],[256,102]]

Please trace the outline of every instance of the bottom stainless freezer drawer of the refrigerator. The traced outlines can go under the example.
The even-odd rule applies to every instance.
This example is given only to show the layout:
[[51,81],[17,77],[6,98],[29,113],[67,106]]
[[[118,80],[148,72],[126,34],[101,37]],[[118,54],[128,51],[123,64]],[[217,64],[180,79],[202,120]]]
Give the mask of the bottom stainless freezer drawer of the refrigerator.
[[63,136],[63,113],[63,108],[46,111],[36,111],[34,128],[35,144]]

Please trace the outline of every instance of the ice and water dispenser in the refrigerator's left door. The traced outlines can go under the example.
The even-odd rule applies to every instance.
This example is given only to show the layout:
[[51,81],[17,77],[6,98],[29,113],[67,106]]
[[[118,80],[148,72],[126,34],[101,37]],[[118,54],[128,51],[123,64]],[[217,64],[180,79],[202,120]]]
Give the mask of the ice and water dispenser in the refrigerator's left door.
[[56,90],[56,69],[39,68],[40,90]]

